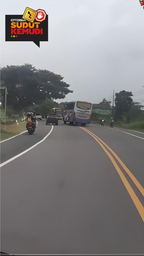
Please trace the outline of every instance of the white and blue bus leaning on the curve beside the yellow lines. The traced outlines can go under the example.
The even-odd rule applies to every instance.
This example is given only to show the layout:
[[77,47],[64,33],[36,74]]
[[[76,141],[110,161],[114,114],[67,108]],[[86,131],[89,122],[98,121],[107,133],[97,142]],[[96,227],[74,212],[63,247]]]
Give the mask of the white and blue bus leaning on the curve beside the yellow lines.
[[64,123],[69,122],[81,123],[82,125],[90,123],[90,116],[92,112],[92,104],[86,101],[72,101],[67,102],[64,108]]

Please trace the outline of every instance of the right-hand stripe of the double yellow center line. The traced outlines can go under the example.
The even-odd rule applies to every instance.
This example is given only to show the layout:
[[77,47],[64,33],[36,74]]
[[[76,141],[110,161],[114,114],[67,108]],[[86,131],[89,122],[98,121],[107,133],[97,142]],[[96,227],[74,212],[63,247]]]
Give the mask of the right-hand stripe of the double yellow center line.
[[[83,128],[85,129],[85,128]],[[87,130],[87,129],[85,129]],[[88,132],[90,132],[89,130],[87,130]],[[91,133],[91,132],[90,132]],[[123,169],[125,170],[125,172],[129,175],[129,177],[132,179],[132,181],[134,182],[134,184],[137,186],[137,188],[140,190],[140,192],[142,193],[142,195],[144,196],[144,188],[142,187],[142,185],[139,183],[139,181],[135,178],[135,176],[132,174],[132,172],[128,169],[128,167],[122,162],[122,160],[118,157],[118,155],[104,142],[102,141],[98,136],[96,136],[94,133],[91,133],[93,136],[95,136],[101,143],[104,144],[104,146],[106,148],[108,148],[110,150],[110,152],[114,155],[114,157],[116,157],[116,159],[118,160],[118,162],[120,163],[120,165],[123,167]]]

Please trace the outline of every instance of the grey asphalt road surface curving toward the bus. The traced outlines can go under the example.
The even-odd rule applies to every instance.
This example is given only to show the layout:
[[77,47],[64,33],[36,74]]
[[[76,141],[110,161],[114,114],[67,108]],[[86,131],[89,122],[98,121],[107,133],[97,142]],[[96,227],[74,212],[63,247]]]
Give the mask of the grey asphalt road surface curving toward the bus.
[[[2,142],[1,161],[51,128]],[[84,128],[59,121],[1,167],[1,251],[144,255],[144,134]]]

